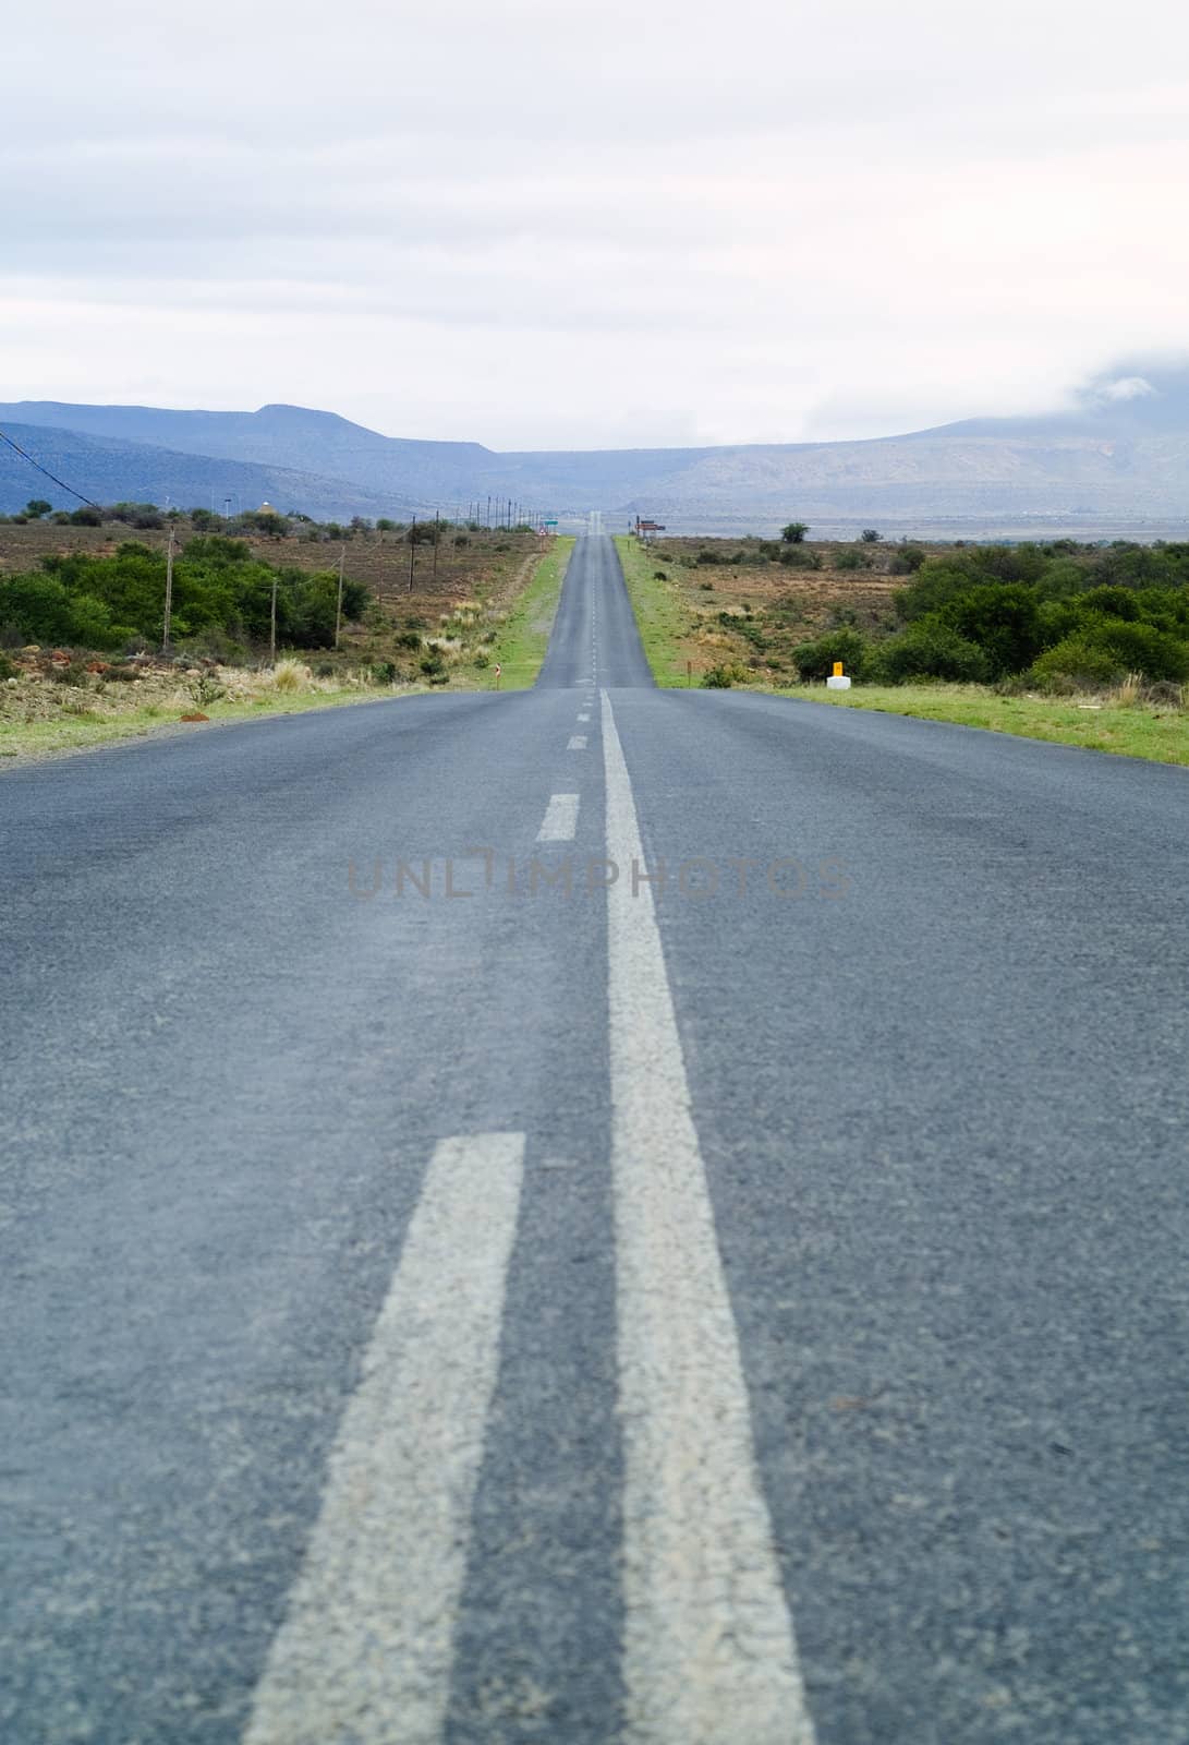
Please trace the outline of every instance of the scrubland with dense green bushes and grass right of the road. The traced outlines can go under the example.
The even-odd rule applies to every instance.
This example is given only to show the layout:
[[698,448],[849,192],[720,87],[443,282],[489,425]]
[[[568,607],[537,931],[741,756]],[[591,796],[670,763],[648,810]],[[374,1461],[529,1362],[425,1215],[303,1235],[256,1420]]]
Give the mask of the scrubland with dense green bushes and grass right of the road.
[[[1189,544],[624,541],[657,682],[795,691],[1189,761]],[[662,581],[659,578],[664,578]],[[631,586],[631,579],[629,579]],[[842,661],[847,693],[823,681]]]

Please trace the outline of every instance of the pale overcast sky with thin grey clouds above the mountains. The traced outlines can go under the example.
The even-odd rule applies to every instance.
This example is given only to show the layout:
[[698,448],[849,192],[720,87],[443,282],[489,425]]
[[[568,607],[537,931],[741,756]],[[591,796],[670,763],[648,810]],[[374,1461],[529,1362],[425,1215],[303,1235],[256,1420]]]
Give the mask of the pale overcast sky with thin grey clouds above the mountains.
[[1175,0],[38,0],[0,398],[797,441],[1189,349]]

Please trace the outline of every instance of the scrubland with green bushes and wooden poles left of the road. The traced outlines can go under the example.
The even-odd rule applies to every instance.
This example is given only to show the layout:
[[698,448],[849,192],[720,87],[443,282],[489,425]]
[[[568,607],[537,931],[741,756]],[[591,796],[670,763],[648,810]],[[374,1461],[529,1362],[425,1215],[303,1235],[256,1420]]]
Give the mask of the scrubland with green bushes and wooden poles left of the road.
[[[307,522],[277,532],[281,518],[263,515],[263,527],[228,534],[221,524],[213,530],[204,511],[136,513],[159,525],[138,527],[122,513],[101,525],[61,517],[0,525],[5,757],[174,722],[194,729],[366,696],[492,686],[502,639],[525,619],[525,597],[537,602],[527,623],[551,616],[563,569],[560,541],[542,548],[527,529]],[[546,639],[537,637],[540,651]],[[537,642],[528,637],[520,649],[513,682],[535,677]]]

